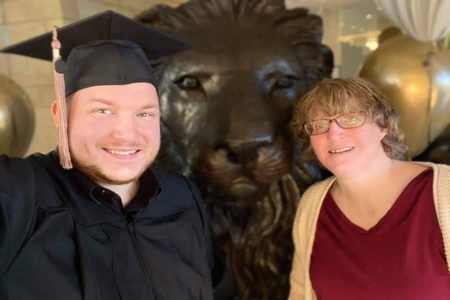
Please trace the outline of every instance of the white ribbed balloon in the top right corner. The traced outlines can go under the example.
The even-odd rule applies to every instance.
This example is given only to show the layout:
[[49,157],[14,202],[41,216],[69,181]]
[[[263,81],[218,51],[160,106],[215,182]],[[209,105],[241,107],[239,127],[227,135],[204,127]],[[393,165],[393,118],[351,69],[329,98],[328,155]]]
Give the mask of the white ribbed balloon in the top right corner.
[[374,0],[398,27],[420,41],[450,33],[450,0]]

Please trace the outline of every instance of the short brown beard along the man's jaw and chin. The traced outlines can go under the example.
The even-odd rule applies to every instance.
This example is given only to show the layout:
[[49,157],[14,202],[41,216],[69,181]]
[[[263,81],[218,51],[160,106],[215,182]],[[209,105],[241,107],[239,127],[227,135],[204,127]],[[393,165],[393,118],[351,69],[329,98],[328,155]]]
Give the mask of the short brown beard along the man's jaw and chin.
[[78,169],[80,172],[82,172],[84,175],[89,177],[92,181],[96,183],[103,183],[103,184],[111,184],[111,185],[122,185],[127,184],[130,182],[133,182],[142,175],[142,173],[150,167],[150,165],[153,163],[154,159],[151,159],[148,163],[146,163],[137,173],[137,175],[133,178],[127,179],[127,180],[114,180],[109,178],[105,173],[102,172],[102,170],[94,165],[94,164],[88,164],[84,163],[80,160],[78,160],[74,155],[70,155],[70,159],[72,161],[72,165],[74,168]]

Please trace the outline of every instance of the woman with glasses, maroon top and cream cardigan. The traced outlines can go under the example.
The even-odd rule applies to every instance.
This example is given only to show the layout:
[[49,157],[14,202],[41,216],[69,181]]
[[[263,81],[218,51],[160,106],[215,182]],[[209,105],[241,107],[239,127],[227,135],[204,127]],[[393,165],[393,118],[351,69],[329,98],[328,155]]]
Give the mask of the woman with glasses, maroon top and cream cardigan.
[[289,299],[450,299],[450,167],[402,160],[385,96],[323,80],[292,128],[334,176],[300,199]]

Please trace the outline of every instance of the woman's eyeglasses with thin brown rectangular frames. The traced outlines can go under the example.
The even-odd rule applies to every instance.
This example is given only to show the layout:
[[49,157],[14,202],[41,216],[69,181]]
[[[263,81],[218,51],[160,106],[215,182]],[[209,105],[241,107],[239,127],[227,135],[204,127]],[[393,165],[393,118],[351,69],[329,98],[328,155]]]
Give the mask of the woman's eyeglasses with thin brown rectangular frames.
[[309,135],[316,135],[328,131],[332,121],[336,121],[341,128],[356,128],[365,123],[364,112],[344,113],[332,119],[318,119],[307,121],[303,124],[304,130]]

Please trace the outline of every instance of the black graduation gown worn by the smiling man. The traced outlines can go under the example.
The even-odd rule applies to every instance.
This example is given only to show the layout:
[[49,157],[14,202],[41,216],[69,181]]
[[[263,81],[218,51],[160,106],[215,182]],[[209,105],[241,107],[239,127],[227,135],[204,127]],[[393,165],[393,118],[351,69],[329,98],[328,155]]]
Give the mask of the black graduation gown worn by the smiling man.
[[196,187],[148,169],[135,199],[119,200],[54,151],[1,155],[0,299],[212,299]]

